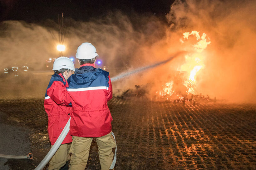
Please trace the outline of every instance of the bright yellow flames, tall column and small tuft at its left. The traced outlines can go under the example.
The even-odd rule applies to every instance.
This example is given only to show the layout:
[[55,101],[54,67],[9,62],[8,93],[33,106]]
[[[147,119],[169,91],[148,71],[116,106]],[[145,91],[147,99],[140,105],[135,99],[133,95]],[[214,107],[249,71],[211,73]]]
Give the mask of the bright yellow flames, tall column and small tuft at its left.
[[[199,94],[199,91],[196,88],[196,75],[199,70],[204,68],[204,58],[203,55],[204,49],[211,43],[207,34],[203,33],[201,36],[198,31],[191,31],[183,33],[183,37],[180,39],[181,44],[185,44],[187,40],[190,39],[191,36],[196,38],[195,44],[189,44],[189,48],[192,48],[188,55],[185,55],[185,63],[177,68],[177,71],[180,73],[185,73],[183,77],[183,85],[186,87],[187,94]],[[162,90],[157,91],[156,93],[161,97],[167,97],[167,99],[175,94],[175,89],[173,89],[174,81],[170,81],[165,83],[165,86]],[[177,94],[179,96],[180,94]],[[157,98],[157,97],[156,97]]]

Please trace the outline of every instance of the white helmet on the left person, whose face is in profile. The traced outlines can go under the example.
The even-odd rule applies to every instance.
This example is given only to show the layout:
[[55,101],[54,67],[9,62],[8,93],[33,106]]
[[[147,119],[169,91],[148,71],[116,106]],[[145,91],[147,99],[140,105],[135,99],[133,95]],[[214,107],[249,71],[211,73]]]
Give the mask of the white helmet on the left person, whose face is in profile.
[[54,61],[52,70],[60,70],[62,68],[75,71],[74,63],[68,57],[58,57]]

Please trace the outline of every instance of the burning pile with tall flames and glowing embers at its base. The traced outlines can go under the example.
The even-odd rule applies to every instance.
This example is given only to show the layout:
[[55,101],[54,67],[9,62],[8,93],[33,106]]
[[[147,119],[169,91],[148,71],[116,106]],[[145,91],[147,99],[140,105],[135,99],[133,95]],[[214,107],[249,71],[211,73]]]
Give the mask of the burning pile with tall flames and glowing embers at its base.
[[[192,53],[184,56],[185,63],[177,69],[178,74],[174,76],[173,80],[166,82],[162,90],[156,91],[155,99],[185,102],[193,101],[194,95],[199,96],[200,92],[196,85],[196,74],[200,69],[204,68],[204,55],[202,52],[211,42],[207,41],[209,38],[206,38],[207,35],[205,33],[200,36],[198,31],[183,33],[183,38],[180,39],[180,42],[184,44],[191,35],[196,38],[196,43],[189,45],[192,49],[185,50],[192,51]],[[188,98],[187,96],[191,97]]]

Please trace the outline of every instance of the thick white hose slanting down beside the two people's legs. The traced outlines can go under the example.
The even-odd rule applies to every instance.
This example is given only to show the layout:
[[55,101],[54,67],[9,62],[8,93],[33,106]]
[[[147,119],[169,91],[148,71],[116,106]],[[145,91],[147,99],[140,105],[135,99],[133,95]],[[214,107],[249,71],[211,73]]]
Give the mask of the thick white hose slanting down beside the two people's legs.
[[50,151],[48,152],[48,154],[44,157],[44,159],[41,161],[41,163],[39,163],[39,165],[35,168],[35,170],[41,170],[45,167],[45,165],[50,161],[50,159],[52,158],[52,156],[56,153],[56,151],[59,149],[62,141],[65,139],[65,137],[67,136],[67,133],[69,131],[69,125],[70,125],[70,119],[69,118],[66,126],[64,127],[63,131],[61,132],[60,136],[58,137],[58,139],[56,140],[55,144],[52,146],[52,148],[50,149]]

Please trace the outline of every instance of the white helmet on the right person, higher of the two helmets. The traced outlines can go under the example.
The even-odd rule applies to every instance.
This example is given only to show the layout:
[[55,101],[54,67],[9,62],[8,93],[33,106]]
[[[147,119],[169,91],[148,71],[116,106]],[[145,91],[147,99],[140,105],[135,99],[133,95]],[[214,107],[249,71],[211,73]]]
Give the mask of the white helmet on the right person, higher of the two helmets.
[[96,56],[98,53],[91,43],[83,43],[76,50],[76,58],[78,59],[92,59]]

